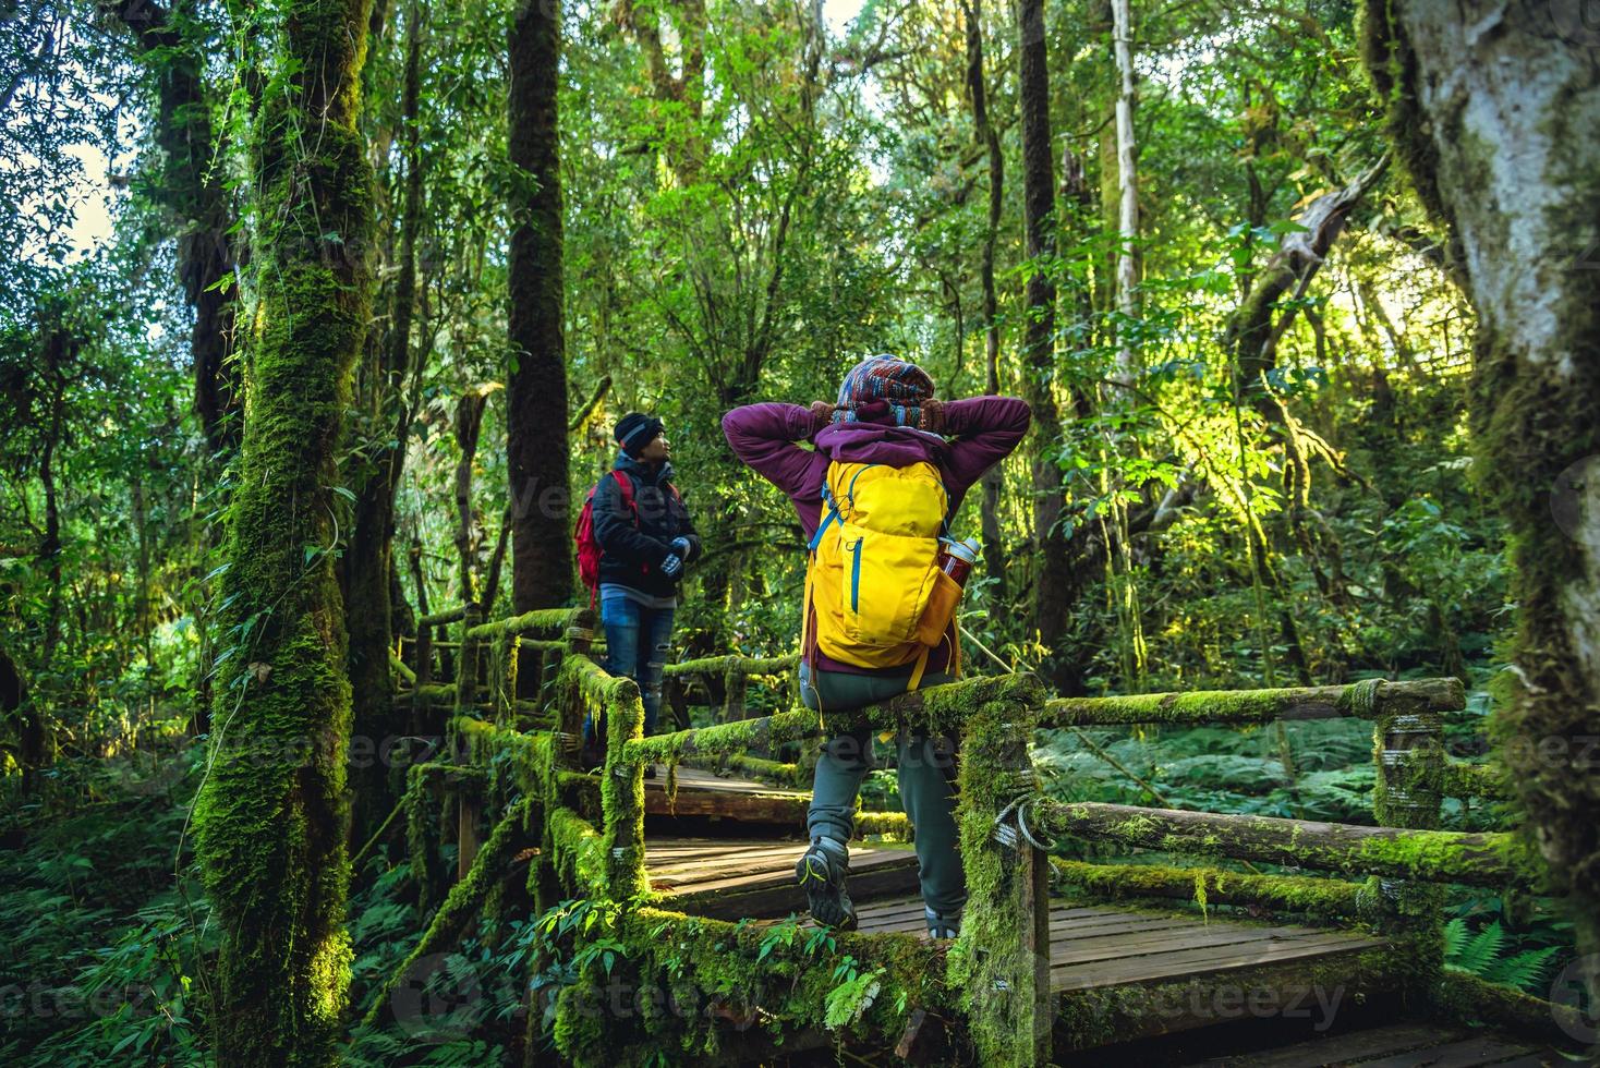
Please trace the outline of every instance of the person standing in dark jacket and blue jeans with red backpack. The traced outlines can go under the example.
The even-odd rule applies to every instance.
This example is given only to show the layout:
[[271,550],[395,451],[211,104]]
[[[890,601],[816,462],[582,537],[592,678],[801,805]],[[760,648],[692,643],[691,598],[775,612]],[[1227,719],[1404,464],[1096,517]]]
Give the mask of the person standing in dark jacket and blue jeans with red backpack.
[[[578,564],[590,603],[600,601],[606,670],[638,683],[645,734],[651,734],[661,713],[678,582],[683,564],[699,556],[701,540],[672,484],[672,446],[662,422],[629,412],[613,435],[621,451],[578,518]],[[592,740],[594,724],[586,719],[586,748]]]

